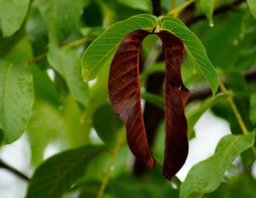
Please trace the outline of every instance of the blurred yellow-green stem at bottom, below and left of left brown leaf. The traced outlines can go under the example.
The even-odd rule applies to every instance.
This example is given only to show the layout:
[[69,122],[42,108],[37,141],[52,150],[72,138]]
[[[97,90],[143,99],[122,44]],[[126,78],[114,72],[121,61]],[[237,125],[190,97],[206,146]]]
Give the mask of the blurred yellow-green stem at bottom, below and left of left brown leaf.
[[106,186],[108,185],[110,173],[113,170],[113,165],[116,162],[116,157],[117,157],[118,151],[120,150],[120,147],[121,147],[121,145],[123,143],[124,132],[125,132],[125,129],[123,127],[121,129],[120,133],[119,133],[118,140],[116,142],[116,146],[111,151],[110,163],[108,165],[108,169],[107,169],[107,171],[105,173],[105,176],[103,178],[102,185],[99,188],[99,192],[97,194],[97,198],[102,198],[102,196],[104,194],[104,191],[106,189]]

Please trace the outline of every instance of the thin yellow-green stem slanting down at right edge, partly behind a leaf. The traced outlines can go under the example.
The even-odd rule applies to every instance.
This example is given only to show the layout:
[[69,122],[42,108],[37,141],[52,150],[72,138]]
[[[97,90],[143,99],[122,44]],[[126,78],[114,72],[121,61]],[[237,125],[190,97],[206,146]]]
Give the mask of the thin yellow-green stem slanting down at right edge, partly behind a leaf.
[[[238,122],[239,126],[241,127],[241,130],[244,133],[244,135],[248,135],[249,131],[247,130],[246,125],[244,124],[241,114],[239,113],[238,109],[236,108],[236,104],[234,103],[232,95],[230,95],[230,93],[227,91],[227,88],[225,87],[225,84],[222,81],[219,81],[219,88],[220,88],[220,90],[222,90],[222,92],[224,94],[228,95],[227,102],[230,103],[230,107],[232,108],[232,111],[236,116],[237,122]],[[254,146],[252,146],[252,152],[256,157],[256,149]]]

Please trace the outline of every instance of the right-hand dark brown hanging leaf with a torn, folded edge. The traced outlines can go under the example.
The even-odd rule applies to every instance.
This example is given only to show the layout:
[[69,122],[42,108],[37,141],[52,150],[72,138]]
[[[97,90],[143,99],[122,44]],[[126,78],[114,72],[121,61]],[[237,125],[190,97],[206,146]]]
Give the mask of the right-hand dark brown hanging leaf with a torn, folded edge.
[[181,79],[184,44],[168,31],[157,33],[165,52],[165,161],[163,175],[168,180],[184,165],[189,151],[184,107],[189,90]]

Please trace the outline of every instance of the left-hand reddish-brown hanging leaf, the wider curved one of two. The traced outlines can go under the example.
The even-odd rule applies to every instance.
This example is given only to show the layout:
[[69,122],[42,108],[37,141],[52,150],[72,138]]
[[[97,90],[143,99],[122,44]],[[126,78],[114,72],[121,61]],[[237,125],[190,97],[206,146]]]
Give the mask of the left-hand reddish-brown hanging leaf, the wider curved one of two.
[[148,34],[148,31],[133,31],[121,42],[110,66],[108,92],[113,110],[127,128],[130,150],[135,157],[154,167],[140,104],[139,56],[142,41]]

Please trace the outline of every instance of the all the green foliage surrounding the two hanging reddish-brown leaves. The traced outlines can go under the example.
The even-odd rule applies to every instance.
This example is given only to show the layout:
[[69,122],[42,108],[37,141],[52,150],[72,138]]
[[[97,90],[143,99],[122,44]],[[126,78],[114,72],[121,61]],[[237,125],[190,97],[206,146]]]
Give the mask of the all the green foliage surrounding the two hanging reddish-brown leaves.
[[[163,16],[155,17],[150,0],[0,0],[0,153],[25,133],[22,141],[29,142],[31,157],[23,160],[35,168],[27,197],[97,197],[104,186],[103,197],[255,197],[256,84],[255,76],[244,77],[256,64],[255,1],[236,2],[216,15],[216,7],[235,1],[195,1],[195,7],[178,13],[184,2],[176,1],[174,9],[162,0]],[[167,16],[170,11],[178,17]],[[152,142],[156,167],[143,167],[142,177],[133,174],[123,123],[109,104],[113,55],[122,39],[138,29],[178,36],[186,50],[184,84],[192,98],[207,90],[206,97],[189,98],[186,106],[189,140],[208,110],[225,119],[232,132],[184,181],[178,181],[179,175],[171,182],[162,177],[164,120],[157,125],[147,120],[150,130],[157,129]],[[165,72],[161,47],[154,33],[143,41],[140,92],[144,109],[149,102],[164,115],[164,79],[159,79],[159,95],[148,88],[152,75]],[[219,89],[219,76],[226,94]],[[45,159],[51,148],[56,154]],[[4,155],[0,158],[4,161]],[[15,192],[12,184],[10,193]],[[0,197],[2,191],[0,186]]]

